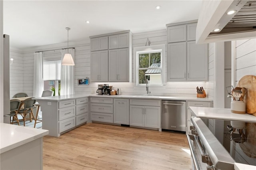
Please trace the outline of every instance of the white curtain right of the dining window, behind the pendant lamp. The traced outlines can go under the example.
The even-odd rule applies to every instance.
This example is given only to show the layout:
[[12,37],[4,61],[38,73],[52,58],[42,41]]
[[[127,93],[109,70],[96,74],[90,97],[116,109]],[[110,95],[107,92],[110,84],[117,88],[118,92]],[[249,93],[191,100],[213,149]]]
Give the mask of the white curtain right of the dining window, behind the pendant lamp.
[[[70,53],[75,61],[75,49],[62,49],[61,60],[63,59],[65,53]],[[74,94],[74,75],[75,66],[72,65],[61,65],[60,71],[60,95],[71,95]]]

